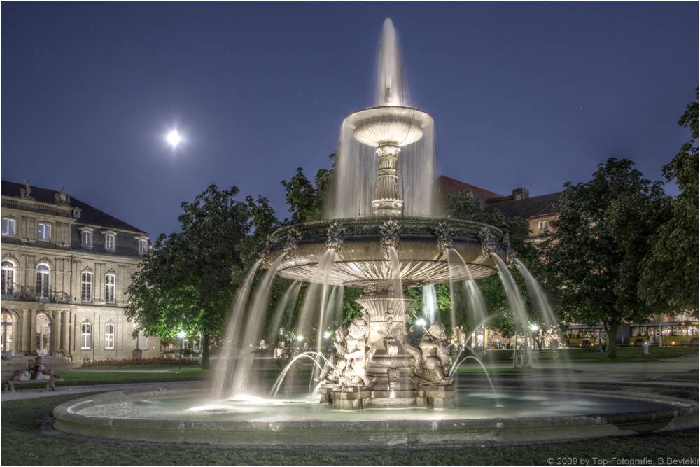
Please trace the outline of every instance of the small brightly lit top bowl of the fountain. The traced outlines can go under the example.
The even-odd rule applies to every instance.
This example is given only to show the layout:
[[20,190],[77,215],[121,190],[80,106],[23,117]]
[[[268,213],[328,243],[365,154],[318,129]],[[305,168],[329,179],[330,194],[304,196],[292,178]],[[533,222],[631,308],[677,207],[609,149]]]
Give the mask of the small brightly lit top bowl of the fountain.
[[381,144],[406,146],[423,137],[433,117],[420,109],[401,106],[370,107],[351,113],[345,122],[353,129],[356,140],[367,146]]

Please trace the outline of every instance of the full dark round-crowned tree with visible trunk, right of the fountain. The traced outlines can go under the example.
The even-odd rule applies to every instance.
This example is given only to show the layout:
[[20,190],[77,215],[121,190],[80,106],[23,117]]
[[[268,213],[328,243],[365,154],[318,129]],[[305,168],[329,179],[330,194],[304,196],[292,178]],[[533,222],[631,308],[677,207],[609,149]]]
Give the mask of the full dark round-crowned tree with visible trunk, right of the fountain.
[[564,184],[555,231],[542,255],[569,322],[603,323],[616,356],[617,328],[645,319],[652,309],[640,300],[639,264],[650,236],[668,209],[660,182],[643,178],[630,160],[608,159],[586,183]]

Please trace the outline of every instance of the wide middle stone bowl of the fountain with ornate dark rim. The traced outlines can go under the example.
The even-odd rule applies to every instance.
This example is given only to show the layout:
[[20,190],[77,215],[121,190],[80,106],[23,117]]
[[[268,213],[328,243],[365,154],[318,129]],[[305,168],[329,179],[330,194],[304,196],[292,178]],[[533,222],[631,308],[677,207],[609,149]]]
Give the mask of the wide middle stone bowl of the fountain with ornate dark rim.
[[[507,256],[507,244],[502,244],[503,232],[478,222],[443,218],[346,218],[277,230],[270,244],[269,262],[286,255],[277,274],[286,279],[320,281],[318,261],[328,251],[328,231],[335,222],[344,232],[342,244],[332,270],[328,277],[323,275],[323,281],[344,286],[391,281],[394,279],[391,263],[381,244],[381,230],[387,221],[399,225],[396,252],[401,265],[400,279],[406,286],[466,280],[470,279],[469,274],[473,279],[488,277],[496,273],[489,252],[495,251],[504,260]],[[447,254],[438,242],[440,229],[445,225],[449,225],[449,235],[442,238],[449,237],[451,247],[462,256],[469,273],[464,268],[449,270]]]

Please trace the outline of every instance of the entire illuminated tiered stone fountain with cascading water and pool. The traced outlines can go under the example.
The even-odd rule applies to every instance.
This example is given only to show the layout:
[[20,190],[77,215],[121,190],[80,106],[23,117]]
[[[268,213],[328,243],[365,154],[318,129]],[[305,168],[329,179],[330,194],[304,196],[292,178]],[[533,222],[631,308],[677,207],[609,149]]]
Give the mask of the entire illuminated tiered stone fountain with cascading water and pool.
[[[617,386],[610,391],[618,393],[609,396],[601,384],[563,393],[552,384],[517,382],[499,390],[469,342],[463,350],[472,355],[459,351],[451,361],[435,284],[451,287],[449,325],[456,324],[458,289],[478,327],[493,316],[477,281],[498,274],[514,322],[526,330],[526,306],[508,268],[515,262],[544,321],[554,324],[554,317],[540,286],[514,258],[507,235],[440,213],[433,193],[433,118],[410,106],[401,67],[387,19],[376,105],[343,120],[326,218],[286,226],[267,238],[232,304],[214,389],[123,391],[71,400],[54,411],[58,430],[123,440],[358,446],[542,441],[696,426],[696,402],[678,398],[677,391],[623,392]],[[253,291],[258,268],[266,271]],[[314,349],[290,358],[270,389],[258,381],[250,349],[263,335],[276,276],[293,283],[274,307],[273,330],[306,282],[294,330]],[[363,312],[335,330],[335,351],[323,354],[323,339],[330,337],[323,331],[342,308],[347,288],[361,289],[356,302]],[[430,320],[417,340],[407,332],[407,310],[414,302],[408,288],[423,288],[423,314]],[[488,384],[463,379],[458,389],[456,370],[465,361],[475,361]],[[311,374],[294,377],[304,362]],[[297,389],[304,394],[281,398],[285,379],[301,380]]]

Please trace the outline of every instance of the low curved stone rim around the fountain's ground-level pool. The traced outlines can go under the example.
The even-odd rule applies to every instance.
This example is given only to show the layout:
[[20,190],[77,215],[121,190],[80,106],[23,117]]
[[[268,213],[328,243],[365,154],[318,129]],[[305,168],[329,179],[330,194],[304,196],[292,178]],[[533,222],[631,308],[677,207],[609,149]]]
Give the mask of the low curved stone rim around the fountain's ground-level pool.
[[[484,389],[461,384],[461,389]],[[561,393],[552,388],[507,384],[505,391]],[[69,400],[53,410],[54,428],[69,435],[123,441],[223,446],[386,446],[472,445],[560,442],[697,428],[698,394],[692,388],[664,386],[579,386],[569,393],[610,396],[668,404],[663,410],[547,417],[381,421],[192,421],[88,417],[85,405],[206,393],[201,388],[111,391]]]

